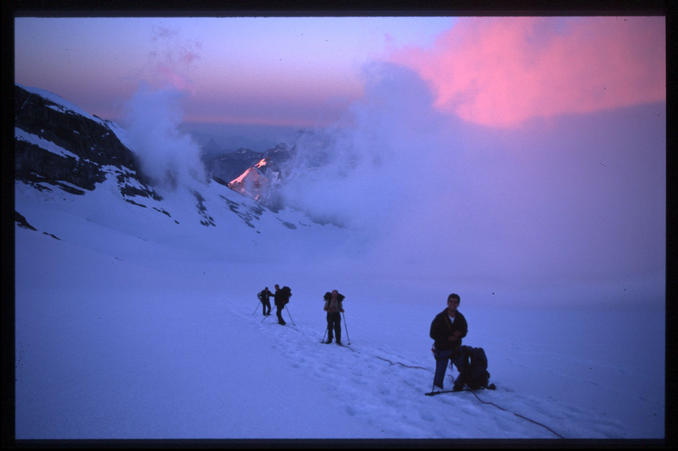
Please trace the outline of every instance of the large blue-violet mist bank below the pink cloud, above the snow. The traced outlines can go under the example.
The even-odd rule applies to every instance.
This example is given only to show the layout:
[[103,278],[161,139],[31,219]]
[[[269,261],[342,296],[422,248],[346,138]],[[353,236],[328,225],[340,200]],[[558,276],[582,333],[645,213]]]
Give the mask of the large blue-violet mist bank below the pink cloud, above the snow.
[[528,304],[663,302],[663,102],[496,129],[436,110],[407,68],[363,75],[343,120],[297,141],[283,187],[355,233],[352,267]]

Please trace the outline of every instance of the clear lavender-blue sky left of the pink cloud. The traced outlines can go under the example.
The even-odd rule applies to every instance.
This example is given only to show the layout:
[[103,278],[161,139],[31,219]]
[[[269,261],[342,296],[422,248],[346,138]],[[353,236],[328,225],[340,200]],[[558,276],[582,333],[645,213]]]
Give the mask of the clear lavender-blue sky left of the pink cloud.
[[139,83],[189,94],[185,120],[325,124],[361,92],[359,73],[455,19],[17,18],[16,81],[116,119]]

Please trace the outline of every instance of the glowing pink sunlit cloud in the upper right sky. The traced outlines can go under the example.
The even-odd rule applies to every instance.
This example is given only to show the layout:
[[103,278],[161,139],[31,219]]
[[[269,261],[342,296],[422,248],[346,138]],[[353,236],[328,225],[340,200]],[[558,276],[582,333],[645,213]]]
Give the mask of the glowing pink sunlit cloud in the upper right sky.
[[665,50],[663,17],[464,18],[393,60],[432,84],[439,109],[511,127],[663,101]]

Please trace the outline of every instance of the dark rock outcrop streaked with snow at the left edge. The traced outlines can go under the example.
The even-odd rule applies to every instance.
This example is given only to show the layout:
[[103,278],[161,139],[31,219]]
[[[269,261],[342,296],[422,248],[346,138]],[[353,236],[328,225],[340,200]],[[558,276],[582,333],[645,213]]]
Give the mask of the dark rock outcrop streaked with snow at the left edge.
[[20,86],[14,88],[14,99],[16,180],[41,191],[57,186],[84,194],[113,173],[126,200],[161,199],[106,121],[85,117]]

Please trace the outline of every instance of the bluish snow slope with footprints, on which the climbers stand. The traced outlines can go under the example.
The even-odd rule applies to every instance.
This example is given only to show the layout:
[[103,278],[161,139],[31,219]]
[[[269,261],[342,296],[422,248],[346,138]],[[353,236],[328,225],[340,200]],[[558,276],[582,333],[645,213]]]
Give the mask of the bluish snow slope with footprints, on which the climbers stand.
[[[219,186],[205,227],[190,194],[165,199],[168,218],[106,183],[16,184],[38,229],[15,229],[17,439],[664,437],[663,309],[491,307],[460,291],[464,343],[485,348],[497,390],[426,397],[448,280],[324,259],[341,229],[293,212],[249,226],[215,207]],[[275,283],[292,287],[287,326],[255,297]],[[350,347],[320,343],[333,288]]]

